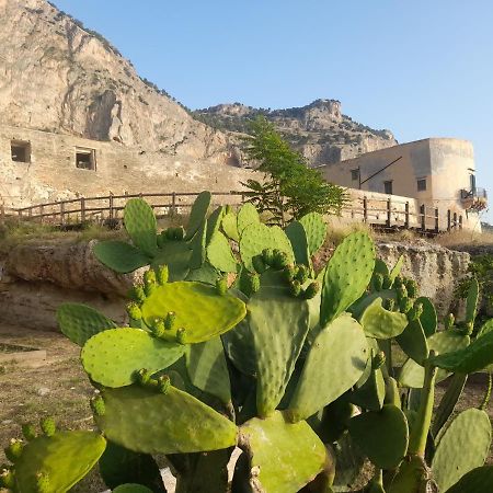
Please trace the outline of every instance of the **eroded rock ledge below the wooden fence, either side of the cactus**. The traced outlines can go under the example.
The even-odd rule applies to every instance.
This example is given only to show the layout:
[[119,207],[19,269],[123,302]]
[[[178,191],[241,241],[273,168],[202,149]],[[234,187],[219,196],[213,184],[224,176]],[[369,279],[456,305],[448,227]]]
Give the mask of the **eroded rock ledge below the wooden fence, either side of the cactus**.
[[[124,298],[142,271],[116,275],[93,256],[94,242],[24,244],[0,265],[0,312],[4,323],[56,331],[61,302],[91,305],[118,323],[126,322]],[[435,246],[394,242],[378,244],[379,256],[393,265],[404,255],[403,273],[436,303],[440,317],[454,306],[455,282],[467,272],[469,254]],[[452,307],[454,308],[454,307]]]

